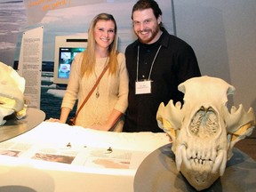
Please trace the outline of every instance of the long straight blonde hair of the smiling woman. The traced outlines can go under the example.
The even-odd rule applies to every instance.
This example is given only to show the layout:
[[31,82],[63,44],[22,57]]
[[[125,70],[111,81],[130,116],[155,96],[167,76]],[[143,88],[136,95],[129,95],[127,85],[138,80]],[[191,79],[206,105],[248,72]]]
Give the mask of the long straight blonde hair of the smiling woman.
[[90,28],[88,30],[88,44],[87,48],[84,51],[84,57],[82,60],[82,65],[81,65],[81,77],[82,76],[90,76],[95,68],[95,62],[96,62],[96,54],[95,54],[95,37],[94,37],[94,28],[96,26],[96,23],[99,20],[112,20],[115,24],[115,37],[114,41],[112,44],[109,45],[108,47],[108,52],[109,52],[109,60],[108,60],[108,73],[111,75],[116,74],[116,69],[118,67],[118,62],[117,62],[117,50],[116,50],[116,44],[117,44],[117,26],[116,26],[116,20],[111,14],[108,13],[100,13],[91,22]]

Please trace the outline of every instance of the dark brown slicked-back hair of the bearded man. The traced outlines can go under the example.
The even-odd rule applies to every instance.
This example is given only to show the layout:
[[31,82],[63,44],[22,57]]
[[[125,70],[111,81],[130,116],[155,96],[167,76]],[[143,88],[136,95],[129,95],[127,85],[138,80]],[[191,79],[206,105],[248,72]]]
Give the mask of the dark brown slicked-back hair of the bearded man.
[[[158,17],[160,15],[162,15],[162,11],[159,8],[159,5],[156,3],[156,1],[154,1],[154,0],[139,0],[136,4],[133,5],[132,20],[133,20],[133,12],[138,11],[138,10],[142,11],[145,9],[152,9],[156,19],[158,19]],[[164,28],[162,22],[159,24],[159,27]]]

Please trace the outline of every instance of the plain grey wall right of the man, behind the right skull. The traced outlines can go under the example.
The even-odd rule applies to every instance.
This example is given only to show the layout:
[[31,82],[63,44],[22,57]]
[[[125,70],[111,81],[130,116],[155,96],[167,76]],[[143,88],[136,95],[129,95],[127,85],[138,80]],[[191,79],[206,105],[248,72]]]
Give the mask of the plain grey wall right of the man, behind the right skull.
[[176,35],[194,48],[202,75],[235,86],[231,104],[255,112],[256,1],[173,0],[173,4]]

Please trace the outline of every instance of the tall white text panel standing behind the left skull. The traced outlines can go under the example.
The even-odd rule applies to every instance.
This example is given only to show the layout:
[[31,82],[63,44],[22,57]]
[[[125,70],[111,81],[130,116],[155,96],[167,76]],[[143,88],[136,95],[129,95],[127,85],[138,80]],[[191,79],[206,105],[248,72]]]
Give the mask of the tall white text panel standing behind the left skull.
[[29,108],[40,108],[44,28],[23,33],[18,73],[26,80],[24,97]]

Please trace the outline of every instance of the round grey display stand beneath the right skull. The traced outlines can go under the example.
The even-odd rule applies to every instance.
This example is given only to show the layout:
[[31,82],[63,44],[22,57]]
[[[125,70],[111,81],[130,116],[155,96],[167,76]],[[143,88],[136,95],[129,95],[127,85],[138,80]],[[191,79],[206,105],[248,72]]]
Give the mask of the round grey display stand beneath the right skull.
[[[177,172],[172,144],[156,149],[140,164],[134,179],[134,192],[196,192]],[[241,150],[234,148],[224,175],[216,180],[209,192],[254,192],[256,189],[256,162]]]

